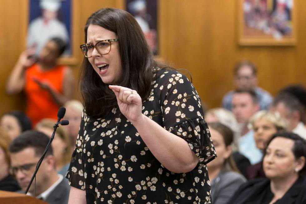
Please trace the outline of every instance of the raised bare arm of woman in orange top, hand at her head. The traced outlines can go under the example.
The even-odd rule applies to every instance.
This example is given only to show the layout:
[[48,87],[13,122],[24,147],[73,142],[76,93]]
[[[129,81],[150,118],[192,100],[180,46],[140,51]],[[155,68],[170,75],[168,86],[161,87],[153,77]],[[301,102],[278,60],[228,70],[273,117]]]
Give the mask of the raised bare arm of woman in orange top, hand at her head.
[[35,50],[30,48],[26,51],[23,51],[14,66],[10,76],[8,77],[6,83],[6,92],[7,94],[17,94],[22,91],[25,84],[25,70],[30,67],[36,59],[31,57],[34,54]]

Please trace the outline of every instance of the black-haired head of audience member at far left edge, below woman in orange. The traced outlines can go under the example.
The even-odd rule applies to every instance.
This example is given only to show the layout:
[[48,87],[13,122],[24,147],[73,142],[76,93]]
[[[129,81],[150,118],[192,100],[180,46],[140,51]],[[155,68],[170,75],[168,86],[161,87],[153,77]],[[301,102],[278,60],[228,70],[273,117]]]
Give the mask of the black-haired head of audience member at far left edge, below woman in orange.
[[22,132],[31,130],[30,119],[21,111],[10,111],[4,114],[0,120],[0,125],[7,131],[11,140]]

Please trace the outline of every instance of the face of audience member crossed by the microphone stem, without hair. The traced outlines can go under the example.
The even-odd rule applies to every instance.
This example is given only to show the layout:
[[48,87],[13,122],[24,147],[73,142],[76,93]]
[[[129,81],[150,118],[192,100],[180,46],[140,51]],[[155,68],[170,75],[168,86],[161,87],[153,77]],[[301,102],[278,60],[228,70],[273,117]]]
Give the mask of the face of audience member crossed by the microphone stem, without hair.
[[[48,127],[38,127],[37,131],[45,133],[48,137],[51,137],[53,133],[53,129],[50,129]],[[51,146],[53,149],[53,155],[55,157],[55,163],[56,165],[58,165],[64,157],[64,151],[67,145],[62,140],[62,138],[57,133],[55,133]]]

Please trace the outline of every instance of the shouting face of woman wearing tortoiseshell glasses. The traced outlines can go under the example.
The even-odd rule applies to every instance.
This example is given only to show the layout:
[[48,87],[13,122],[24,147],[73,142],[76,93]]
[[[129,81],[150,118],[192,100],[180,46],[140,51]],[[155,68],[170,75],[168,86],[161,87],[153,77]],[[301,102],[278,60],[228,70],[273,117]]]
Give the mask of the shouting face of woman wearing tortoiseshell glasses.
[[[102,40],[117,39],[114,32],[98,25],[89,25],[87,29],[87,44],[96,45]],[[119,54],[119,42],[111,42],[111,52],[101,55],[96,49],[88,58],[91,66],[105,84],[119,84],[122,68]]]

